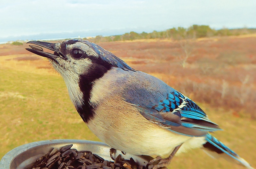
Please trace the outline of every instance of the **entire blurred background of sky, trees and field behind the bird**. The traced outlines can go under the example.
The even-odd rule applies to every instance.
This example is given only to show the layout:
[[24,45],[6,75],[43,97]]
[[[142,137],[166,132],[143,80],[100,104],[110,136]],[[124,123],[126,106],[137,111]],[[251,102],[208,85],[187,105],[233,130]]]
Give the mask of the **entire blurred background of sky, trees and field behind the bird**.
[[[0,0],[0,158],[49,139],[100,141],[62,77],[28,40],[95,42],[193,99],[224,131],[213,134],[256,166],[256,1]],[[170,168],[243,168],[202,150]]]

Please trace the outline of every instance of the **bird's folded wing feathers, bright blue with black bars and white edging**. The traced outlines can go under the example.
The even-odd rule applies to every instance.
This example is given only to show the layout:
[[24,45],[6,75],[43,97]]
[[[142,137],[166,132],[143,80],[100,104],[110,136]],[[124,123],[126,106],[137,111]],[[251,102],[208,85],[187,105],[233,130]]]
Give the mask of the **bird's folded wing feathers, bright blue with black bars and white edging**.
[[136,107],[149,121],[182,135],[204,136],[220,130],[195,102],[174,89],[156,105],[137,104]]

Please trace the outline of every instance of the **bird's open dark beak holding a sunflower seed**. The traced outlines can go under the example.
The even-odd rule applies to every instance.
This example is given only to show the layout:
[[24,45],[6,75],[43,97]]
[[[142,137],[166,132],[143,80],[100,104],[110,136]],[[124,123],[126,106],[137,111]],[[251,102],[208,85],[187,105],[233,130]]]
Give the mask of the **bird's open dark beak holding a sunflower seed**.
[[56,62],[56,58],[65,59],[65,56],[62,55],[59,50],[55,49],[55,45],[56,45],[55,43],[48,43],[48,42],[41,42],[41,41],[29,41],[27,43],[38,45],[38,46],[41,46],[41,47],[44,47],[46,49],[50,49],[50,50],[54,51],[54,53],[51,54],[51,53],[48,53],[48,52],[44,52],[43,48],[41,48],[41,47],[34,46],[34,45],[29,45],[30,48],[26,48],[26,50],[28,50],[29,52],[32,52],[36,55],[47,57],[49,59],[52,59],[55,62]]

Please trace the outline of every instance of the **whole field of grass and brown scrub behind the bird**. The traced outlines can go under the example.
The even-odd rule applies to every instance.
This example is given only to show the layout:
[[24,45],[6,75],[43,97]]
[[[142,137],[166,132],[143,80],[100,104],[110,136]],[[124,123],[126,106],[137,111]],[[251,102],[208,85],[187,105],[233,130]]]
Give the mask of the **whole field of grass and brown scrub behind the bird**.
[[[213,136],[256,167],[256,34],[98,44],[196,101],[224,130]],[[100,141],[76,112],[62,77],[27,47],[0,45],[0,159],[39,140]],[[197,149],[175,156],[169,168],[244,167]]]

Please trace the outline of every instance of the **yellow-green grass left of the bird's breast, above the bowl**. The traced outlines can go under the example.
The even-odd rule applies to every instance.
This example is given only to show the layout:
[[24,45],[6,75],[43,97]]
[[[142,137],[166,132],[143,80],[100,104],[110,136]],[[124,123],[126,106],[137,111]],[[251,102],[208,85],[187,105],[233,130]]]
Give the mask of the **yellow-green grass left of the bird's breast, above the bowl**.
[[76,112],[60,76],[0,68],[0,110],[0,158],[39,140],[99,141]]

